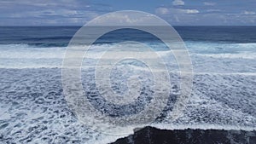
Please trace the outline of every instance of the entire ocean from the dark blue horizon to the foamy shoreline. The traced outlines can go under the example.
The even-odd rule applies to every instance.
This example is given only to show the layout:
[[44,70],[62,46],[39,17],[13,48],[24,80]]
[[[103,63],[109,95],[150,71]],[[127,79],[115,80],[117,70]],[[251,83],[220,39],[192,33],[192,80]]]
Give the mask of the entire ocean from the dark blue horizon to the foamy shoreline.
[[[0,26],[0,141],[109,143],[133,134],[131,128],[125,130],[125,127],[121,131],[125,135],[109,135],[92,130],[90,125],[81,123],[68,107],[61,84],[61,66],[68,43],[79,28],[80,26]],[[134,29],[109,32],[90,46],[82,64],[83,87],[89,92],[87,94],[90,95],[90,102],[100,112],[106,112],[111,117],[130,116],[141,111],[143,105],[150,102],[150,99],[139,99],[141,102],[137,102],[136,107],[115,107],[105,105],[106,101],[102,101],[99,94],[94,94],[94,97],[90,94],[96,89],[93,66],[104,50],[125,41],[146,43],[163,58],[172,78],[173,93],[164,112],[148,126],[159,130],[181,130],[186,133],[185,136],[179,137],[180,134],[175,132],[172,136],[183,143],[188,143],[188,136],[202,135],[203,130],[219,130],[218,135],[223,134],[226,138],[218,141],[220,143],[255,143],[256,26],[174,28],[183,38],[194,71],[192,92],[180,117],[175,120],[170,118],[175,96],[180,90],[175,57],[160,39]],[[136,48],[131,43],[122,45],[125,49],[131,47]],[[114,81],[112,88],[123,94],[128,88],[123,82],[127,78],[122,76],[122,72],[143,77],[145,75],[140,75],[141,67],[143,64],[134,61],[126,61],[125,67],[115,67],[120,71],[115,71],[110,76]],[[150,97],[148,91],[144,95]],[[194,133],[193,130],[202,131]],[[231,132],[227,134],[229,130]],[[155,130],[151,131],[154,132]],[[146,130],[143,133],[145,137],[140,135],[139,139],[148,140],[149,134],[150,130]],[[212,137],[216,137],[215,134],[212,132]],[[186,136],[187,139],[184,138]],[[154,135],[149,138],[154,140]],[[126,142],[137,143],[135,139],[138,138],[130,136]],[[207,143],[216,143],[214,140]],[[197,142],[205,143],[200,139]]]

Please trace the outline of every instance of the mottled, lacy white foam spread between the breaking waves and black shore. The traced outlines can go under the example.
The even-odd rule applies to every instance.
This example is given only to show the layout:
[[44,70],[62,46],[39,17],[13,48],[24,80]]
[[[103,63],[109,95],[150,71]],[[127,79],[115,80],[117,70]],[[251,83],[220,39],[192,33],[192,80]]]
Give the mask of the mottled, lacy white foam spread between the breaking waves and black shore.
[[[133,133],[134,127],[128,127],[119,129],[126,135],[102,134],[81,124],[62,95],[60,69],[0,69],[0,73],[0,134],[4,132],[6,141],[108,143]],[[93,76],[93,71],[85,69],[83,73],[84,84],[90,84],[88,76]],[[177,75],[172,73],[172,78]],[[199,73],[183,116],[172,121],[172,109],[167,109],[151,126],[166,130],[256,130],[255,80],[255,75]]]

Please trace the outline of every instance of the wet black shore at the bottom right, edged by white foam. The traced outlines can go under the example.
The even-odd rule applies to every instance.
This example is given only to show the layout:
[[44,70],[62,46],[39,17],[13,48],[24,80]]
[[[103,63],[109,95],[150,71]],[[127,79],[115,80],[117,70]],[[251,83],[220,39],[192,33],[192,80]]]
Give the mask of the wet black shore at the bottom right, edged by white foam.
[[113,144],[215,144],[256,143],[256,131],[243,130],[159,130],[146,127]]

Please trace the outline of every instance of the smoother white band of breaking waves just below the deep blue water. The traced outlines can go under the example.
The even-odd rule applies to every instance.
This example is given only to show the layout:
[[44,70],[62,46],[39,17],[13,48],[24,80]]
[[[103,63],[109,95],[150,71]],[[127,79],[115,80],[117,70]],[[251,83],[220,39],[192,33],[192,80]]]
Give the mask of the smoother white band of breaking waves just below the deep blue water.
[[[173,66],[176,63],[173,55],[163,50],[162,44],[152,45],[154,49],[161,49],[156,53],[168,61],[167,65]],[[113,44],[108,43],[92,45],[87,55],[84,55],[83,66],[90,66],[92,59],[101,59],[104,51],[111,46]],[[83,46],[75,47],[80,50]],[[129,45],[124,47],[131,48]],[[219,72],[220,69],[223,72],[256,72],[253,64],[256,59],[256,43],[187,42],[187,47],[195,72]],[[0,44],[0,68],[61,67],[65,51],[65,47],[38,48],[27,44]],[[113,55],[118,54],[113,51]]]

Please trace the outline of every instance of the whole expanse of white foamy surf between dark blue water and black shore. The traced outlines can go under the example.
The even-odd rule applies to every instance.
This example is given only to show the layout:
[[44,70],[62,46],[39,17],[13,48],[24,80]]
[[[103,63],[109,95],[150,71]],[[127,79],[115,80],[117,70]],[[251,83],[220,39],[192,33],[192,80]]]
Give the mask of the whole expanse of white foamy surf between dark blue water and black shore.
[[[101,57],[102,49],[109,46],[93,46],[95,49],[91,49],[83,64],[86,77],[91,75],[93,79],[90,67]],[[220,46],[224,50],[219,50]],[[172,121],[172,110],[167,109],[162,119],[151,125],[167,130],[256,130],[255,46],[255,43],[188,43],[195,78],[183,116]],[[232,50],[224,53],[226,49]],[[61,68],[65,50],[26,44],[0,45],[0,89],[3,91],[0,135],[4,135],[4,141],[108,143],[125,136],[90,130],[90,126],[81,124],[67,107],[61,92],[61,70],[49,69]],[[172,80],[178,79],[173,56],[164,50],[157,53],[167,61]],[[143,70],[138,65],[131,65],[131,69]],[[91,78],[85,78],[85,82]],[[174,89],[178,89],[177,85],[172,84]],[[126,135],[133,133],[131,128],[120,130]]]

